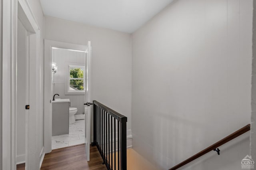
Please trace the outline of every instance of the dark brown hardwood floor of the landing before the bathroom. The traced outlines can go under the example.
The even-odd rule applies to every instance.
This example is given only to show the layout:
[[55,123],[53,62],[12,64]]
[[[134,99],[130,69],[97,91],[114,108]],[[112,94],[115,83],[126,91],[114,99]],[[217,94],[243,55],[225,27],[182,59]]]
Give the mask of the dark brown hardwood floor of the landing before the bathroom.
[[96,146],[90,147],[87,162],[84,144],[53,150],[44,156],[41,170],[106,170]]

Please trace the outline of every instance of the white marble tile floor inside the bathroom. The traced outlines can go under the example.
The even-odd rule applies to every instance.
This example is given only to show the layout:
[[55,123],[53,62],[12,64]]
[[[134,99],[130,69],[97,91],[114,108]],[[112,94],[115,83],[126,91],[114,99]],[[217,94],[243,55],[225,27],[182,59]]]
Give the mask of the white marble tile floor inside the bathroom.
[[52,136],[52,149],[83,144],[85,139],[85,121],[76,120],[69,125],[69,134]]

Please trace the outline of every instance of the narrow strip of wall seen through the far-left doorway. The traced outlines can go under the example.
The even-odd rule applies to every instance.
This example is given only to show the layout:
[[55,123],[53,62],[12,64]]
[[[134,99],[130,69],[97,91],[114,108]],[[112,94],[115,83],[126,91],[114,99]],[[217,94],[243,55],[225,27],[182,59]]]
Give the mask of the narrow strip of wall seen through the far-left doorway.
[[25,130],[26,130],[26,29],[18,20],[17,29],[17,164],[25,162]]

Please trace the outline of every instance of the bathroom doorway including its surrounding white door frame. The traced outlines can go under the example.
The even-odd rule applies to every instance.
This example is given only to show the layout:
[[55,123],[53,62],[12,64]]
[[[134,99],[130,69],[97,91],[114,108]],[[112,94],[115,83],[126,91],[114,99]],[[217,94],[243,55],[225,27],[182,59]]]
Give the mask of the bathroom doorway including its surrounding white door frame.
[[[84,107],[85,98],[88,99],[90,92],[89,56],[88,45],[44,40],[44,147],[46,153],[53,149],[90,144],[91,108]],[[64,109],[67,106],[65,102],[69,103],[69,109]],[[60,103],[63,107],[60,107]],[[60,111],[58,108],[64,110]],[[64,112],[65,114],[60,115]],[[65,131],[67,127],[68,131]],[[88,150],[86,153],[89,152]]]

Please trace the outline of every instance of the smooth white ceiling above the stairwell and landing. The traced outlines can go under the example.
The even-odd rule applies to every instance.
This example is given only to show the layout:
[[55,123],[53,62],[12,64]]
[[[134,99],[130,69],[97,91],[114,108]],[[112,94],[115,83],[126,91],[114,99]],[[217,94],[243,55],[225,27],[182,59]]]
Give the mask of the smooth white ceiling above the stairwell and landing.
[[173,0],[40,0],[44,14],[132,33]]

